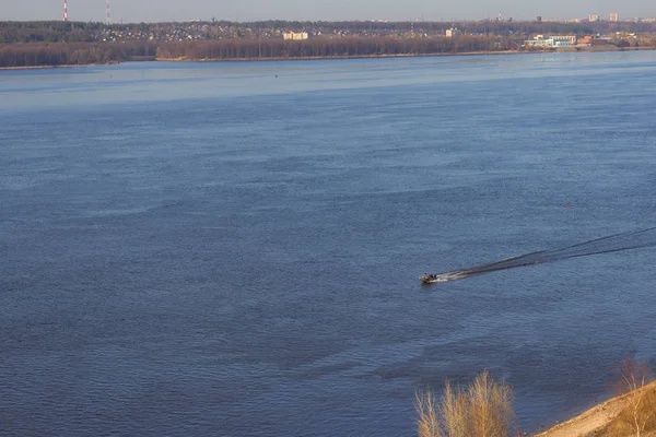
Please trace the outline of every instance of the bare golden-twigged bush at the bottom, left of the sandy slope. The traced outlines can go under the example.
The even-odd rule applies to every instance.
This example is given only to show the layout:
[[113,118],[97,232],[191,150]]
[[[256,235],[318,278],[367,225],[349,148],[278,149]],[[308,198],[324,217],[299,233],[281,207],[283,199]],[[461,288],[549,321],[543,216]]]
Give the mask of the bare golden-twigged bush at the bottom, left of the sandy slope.
[[506,437],[514,413],[509,386],[495,382],[488,371],[467,390],[446,382],[437,403],[431,392],[417,394],[419,437]]

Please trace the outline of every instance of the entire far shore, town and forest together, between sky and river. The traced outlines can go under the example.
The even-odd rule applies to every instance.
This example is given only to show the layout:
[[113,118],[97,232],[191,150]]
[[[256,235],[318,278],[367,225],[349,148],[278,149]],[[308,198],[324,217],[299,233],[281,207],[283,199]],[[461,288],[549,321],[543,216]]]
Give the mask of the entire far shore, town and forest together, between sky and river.
[[0,68],[656,48],[656,19],[565,21],[0,22]]

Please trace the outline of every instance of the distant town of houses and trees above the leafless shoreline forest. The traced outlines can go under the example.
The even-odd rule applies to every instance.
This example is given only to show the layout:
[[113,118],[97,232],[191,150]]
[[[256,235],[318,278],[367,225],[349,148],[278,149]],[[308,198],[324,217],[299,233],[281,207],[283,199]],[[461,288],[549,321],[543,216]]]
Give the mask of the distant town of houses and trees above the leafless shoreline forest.
[[[209,21],[198,19],[188,22],[172,23],[105,23],[73,22],[68,20],[68,12],[60,22],[0,22],[0,44],[11,43],[99,43],[99,42],[155,42],[178,43],[212,39],[290,39],[343,38],[343,37],[396,37],[430,38],[436,36],[459,35],[523,35],[531,45],[547,47],[549,38],[530,38],[536,35],[569,31],[567,35],[577,37],[605,34],[612,39],[613,35],[655,33],[656,17],[621,19],[618,13],[607,17],[590,14],[582,19],[514,21],[497,17],[469,22],[388,22],[352,21],[352,22],[297,22],[297,21],[260,21],[237,23]],[[546,43],[532,43],[544,39]],[[570,37],[554,39],[553,47],[562,46],[566,40],[572,45],[576,40]],[[583,43],[587,44],[587,43]],[[590,43],[591,44],[591,43]]]

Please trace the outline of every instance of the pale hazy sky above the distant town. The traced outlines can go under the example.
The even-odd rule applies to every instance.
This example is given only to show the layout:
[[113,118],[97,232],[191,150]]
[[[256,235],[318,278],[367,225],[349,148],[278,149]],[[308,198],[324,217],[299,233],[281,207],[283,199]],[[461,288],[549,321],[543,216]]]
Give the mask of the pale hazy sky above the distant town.
[[[0,20],[59,20],[63,0],[0,0]],[[110,0],[112,21],[254,20],[517,20],[655,16],[654,0]],[[105,0],[68,0],[69,20],[105,21]]]

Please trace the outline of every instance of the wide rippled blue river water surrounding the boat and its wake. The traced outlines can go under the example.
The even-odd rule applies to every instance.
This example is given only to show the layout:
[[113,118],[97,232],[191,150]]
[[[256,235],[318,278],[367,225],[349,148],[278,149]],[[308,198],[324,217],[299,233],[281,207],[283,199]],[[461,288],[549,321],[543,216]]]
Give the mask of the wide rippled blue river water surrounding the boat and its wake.
[[0,71],[0,435],[536,430],[656,361],[656,52]]

